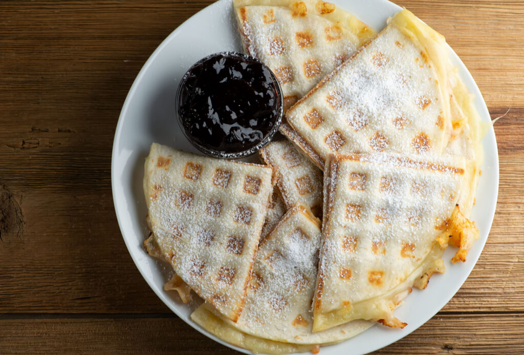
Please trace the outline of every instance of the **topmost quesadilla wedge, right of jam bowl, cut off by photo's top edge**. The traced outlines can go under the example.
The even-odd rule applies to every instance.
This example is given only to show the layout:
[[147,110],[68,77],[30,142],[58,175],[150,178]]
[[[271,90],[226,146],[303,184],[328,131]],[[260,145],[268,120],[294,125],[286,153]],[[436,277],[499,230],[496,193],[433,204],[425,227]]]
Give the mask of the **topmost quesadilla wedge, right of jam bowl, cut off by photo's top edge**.
[[286,109],[376,34],[323,1],[234,0],[233,5],[246,53],[275,73]]

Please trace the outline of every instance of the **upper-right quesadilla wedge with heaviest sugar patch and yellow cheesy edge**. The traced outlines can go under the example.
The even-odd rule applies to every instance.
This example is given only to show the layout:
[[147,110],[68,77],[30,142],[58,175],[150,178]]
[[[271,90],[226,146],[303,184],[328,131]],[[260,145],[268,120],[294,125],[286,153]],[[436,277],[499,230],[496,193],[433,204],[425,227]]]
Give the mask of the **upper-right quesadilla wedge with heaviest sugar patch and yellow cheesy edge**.
[[402,10],[287,111],[288,137],[321,168],[330,154],[440,155],[463,122],[456,80],[444,37]]

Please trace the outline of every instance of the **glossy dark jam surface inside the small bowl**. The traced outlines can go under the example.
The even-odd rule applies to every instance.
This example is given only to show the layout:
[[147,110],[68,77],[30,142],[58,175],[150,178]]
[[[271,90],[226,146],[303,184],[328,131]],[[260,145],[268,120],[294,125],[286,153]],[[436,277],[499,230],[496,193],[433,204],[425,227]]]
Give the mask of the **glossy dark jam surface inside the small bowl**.
[[279,116],[276,85],[269,69],[256,60],[219,53],[195,64],[179,89],[185,133],[219,152],[254,147]]

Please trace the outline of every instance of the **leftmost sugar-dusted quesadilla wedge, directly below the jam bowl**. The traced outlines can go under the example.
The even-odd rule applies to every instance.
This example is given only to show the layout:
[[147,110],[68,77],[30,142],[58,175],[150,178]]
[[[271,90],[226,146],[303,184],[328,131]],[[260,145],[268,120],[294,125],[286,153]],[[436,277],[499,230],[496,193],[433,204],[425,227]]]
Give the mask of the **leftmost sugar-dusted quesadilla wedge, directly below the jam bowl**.
[[152,235],[145,244],[178,275],[166,288],[183,281],[236,320],[273,185],[270,167],[152,144],[144,176]]

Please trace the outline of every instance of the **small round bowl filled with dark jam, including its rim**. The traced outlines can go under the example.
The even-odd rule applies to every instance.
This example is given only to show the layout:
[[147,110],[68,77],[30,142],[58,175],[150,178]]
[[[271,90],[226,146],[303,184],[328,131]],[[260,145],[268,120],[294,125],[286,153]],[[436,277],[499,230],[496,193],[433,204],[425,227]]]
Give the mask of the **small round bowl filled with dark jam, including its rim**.
[[[222,58],[225,59],[220,61],[219,59]],[[224,63],[235,64],[234,62],[245,64],[239,64],[241,68],[235,66],[235,68],[239,70],[233,70],[233,67],[231,67],[230,70],[230,68],[223,65]],[[212,66],[210,67],[211,64]],[[205,72],[206,74],[214,74],[216,70],[217,78],[206,77],[200,82],[197,81],[200,78],[198,73],[203,72],[202,68],[208,69],[208,71]],[[211,70],[211,68],[213,68],[213,70]],[[253,71],[249,71],[253,70],[250,68],[255,68],[256,70],[259,68],[260,73],[256,73],[260,75],[255,78]],[[227,72],[230,76],[234,76],[229,86],[227,83],[224,84],[226,81],[219,81],[219,72],[223,69],[226,70],[220,75]],[[242,70],[244,70],[244,72],[242,72]],[[250,81],[248,82],[247,79],[244,80],[244,77]],[[199,83],[200,86],[197,88],[190,86],[191,83],[188,83],[188,81],[191,81],[193,84],[195,82]],[[234,83],[234,85],[232,83]],[[220,89],[216,89],[215,87],[209,89],[208,85],[214,84],[218,85],[217,87]],[[259,88],[260,85],[263,85],[263,88],[269,89],[256,91],[255,89]],[[211,90],[214,98],[203,94],[205,90]],[[243,106],[245,110],[239,109],[238,105],[242,103],[245,104],[248,102],[248,99],[249,104]],[[250,112],[251,115],[245,113],[247,110],[251,110],[253,106],[257,106],[257,104],[264,104],[264,99],[267,99],[267,109],[254,109],[253,112]],[[227,51],[214,53],[194,63],[180,81],[176,100],[178,123],[189,142],[206,155],[225,159],[240,158],[254,154],[268,144],[278,131],[284,109],[282,90],[275,74],[263,62],[256,58],[243,53]],[[272,100],[276,100],[276,102]],[[214,103],[212,104],[212,102]],[[251,105],[251,103],[254,104]],[[225,111],[218,113],[215,110],[215,106],[219,106],[220,109],[222,107],[221,105],[224,107],[224,110],[231,110],[229,108],[230,105],[235,107],[236,110],[234,108],[233,111],[228,111],[232,113],[227,117]],[[237,113],[239,113],[239,115],[237,115]],[[260,120],[257,120],[257,117]],[[265,118],[262,119],[261,117]],[[249,127],[245,126],[247,122],[249,122]],[[226,130],[228,130],[227,133]],[[202,136],[195,137],[195,135],[189,131],[200,133]],[[232,131],[234,132],[232,133]],[[239,137],[246,137],[247,144]],[[213,141],[213,138],[220,141],[220,147],[216,145],[213,146],[210,142]],[[233,140],[230,146],[234,146],[234,148],[227,149],[227,144],[229,143],[225,140],[228,142]]]

